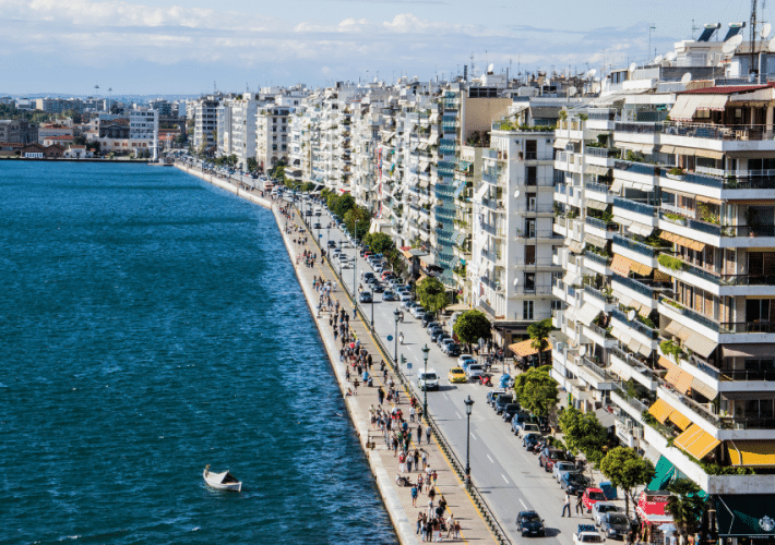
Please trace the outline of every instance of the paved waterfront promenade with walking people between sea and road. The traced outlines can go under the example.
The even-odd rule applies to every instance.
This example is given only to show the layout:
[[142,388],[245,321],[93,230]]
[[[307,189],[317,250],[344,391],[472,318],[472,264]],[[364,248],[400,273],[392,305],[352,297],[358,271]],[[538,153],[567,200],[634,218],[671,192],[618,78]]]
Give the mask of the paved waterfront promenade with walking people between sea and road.
[[[285,241],[286,249],[288,250],[288,255],[296,267],[296,272],[299,279],[299,283],[305,292],[307,302],[310,307],[310,312],[315,316],[318,323],[318,329],[320,331],[323,344],[329,353],[329,359],[331,360],[332,367],[336,375],[337,382],[339,384],[339,389],[342,395],[345,397],[345,403],[350,413],[350,417],[356,427],[356,432],[360,439],[361,446],[365,449],[366,456],[368,457],[371,470],[377,479],[378,486],[384,499],[388,511],[395,526],[396,533],[402,544],[414,544],[419,543],[419,535],[416,533],[417,529],[417,516],[421,511],[428,511],[428,489],[424,488],[424,493],[419,494],[416,506],[413,507],[410,487],[400,486],[396,484],[396,476],[400,474],[398,458],[394,455],[393,448],[389,448],[385,445],[382,433],[374,428],[370,423],[370,412],[369,408],[371,405],[377,407],[379,404],[378,390],[379,387],[388,389],[386,384],[391,379],[394,379],[396,387],[401,388],[401,383],[397,377],[395,377],[392,370],[389,371],[388,379],[385,380],[382,373],[379,371],[379,362],[385,360],[388,362],[389,358],[386,354],[380,352],[374,339],[366,324],[361,319],[350,319],[350,330],[360,341],[362,349],[367,350],[369,354],[372,354],[374,366],[372,376],[374,377],[374,384],[372,388],[367,388],[361,386],[357,388],[357,395],[349,396],[348,389],[355,389],[351,383],[347,382],[347,371],[345,363],[339,361],[339,347],[341,343],[334,338],[333,328],[329,324],[329,314],[322,313],[318,314],[317,305],[319,300],[319,292],[313,288],[313,279],[323,278],[324,280],[330,280],[332,282],[338,283],[338,279],[334,274],[333,269],[326,264],[321,264],[320,259],[320,249],[312,243],[314,237],[308,231],[302,232],[287,232],[287,227],[298,226],[301,229],[303,222],[295,209],[290,209],[290,217],[284,216],[279,211],[279,203],[273,202],[267,198],[263,198],[257,195],[254,192],[249,192],[245,190],[239,190],[236,184],[230,183],[214,174],[203,174],[198,169],[191,167],[184,167],[178,165],[182,170],[196,175],[214,185],[217,185],[226,191],[235,193],[240,197],[251,201],[260,206],[271,208],[275,219],[277,221],[281,233]],[[287,203],[283,203],[287,205]],[[301,245],[298,243],[299,239],[307,235],[309,244]],[[297,242],[294,242],[296,239]],[[310,250],[318,254],[318,261],[313,267],[307,267],[303,264],[303,259],[299,259],[297,264],[297,256],[302,254],[306,250]],[[343,290],[338,289],[336,292],[332,293],[332,299],[337,300],[339,304],[350,312],[353,308],[353,302],[349,295]],[[353,374],[355,375],[355,374]],[[401,392],[400,403],[395,405],[394,403],[385,403],[383,407],[391,410],[393,405],[400,408],[405,415],[409,414],[409,392],[404,390]],[[426,440],[426,434],[422,432],[421,439],[418,441],[416,434],[417,424],[410,424],[413,433],[413,441],[410,446],[410,451],[414,452],[415,449],[424,449],[427,452],[427,459],[432,471],[438,474],[438,481],[436,486],[436,498],[433,506],[438,506],[441,496],[443,495],[446,500],[446,511],[444,513],[445,518],[450,514],[454,514],[454,519],[461,524],[461,536],[460,540],[454,537],[448,537],[448,532],[443,532],[444,541],[456,541],[465,543],[491,543],[494,542],[494,537],[490,532],[485,520],[479,514],[476,506],[472,501],[468,493],[466,492],[463,483],[458,479],[457,474],[451,468],[449,460],[445,455],[439,448],[436,439],[431,437],[431,444],[428,445]],[[425,427],[425,424],[424,424]],[[404,473],[404,476],[412,476],[412,481],[417,481],[417,471],[413,471],[412,475]]]

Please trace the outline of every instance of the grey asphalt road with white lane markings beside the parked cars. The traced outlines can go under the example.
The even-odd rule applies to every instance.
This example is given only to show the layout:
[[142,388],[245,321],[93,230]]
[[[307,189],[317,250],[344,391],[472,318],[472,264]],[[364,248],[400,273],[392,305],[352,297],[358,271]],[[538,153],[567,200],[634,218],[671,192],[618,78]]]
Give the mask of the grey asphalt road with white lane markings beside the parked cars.
[[[317,221],[313,216],[310,223],[314,225]],[[332,220],[324,211],[320,218],[323,227],[320,230],[322,246],[327,243],[329,232],[325,227]],[[318,235],[319,230],[313,230],[313,233]],[[343,251],[350,258],[353,257],[355,249],[337,227],[332,227],[330,237],[337,245],[341,241],[344,242]],[[338,267],[336,269],[338,271]],[[354,275],[356,275],[357,287],[360,272],[371,270],[368,262],[358,255],[356,267],[343,270],[342,279],[347,291],[353,290]],[[362,313],[368,318],[371,318],[373,310],[375,331],[391,352],[394,350],[395,341],[388,340],[388,337],[391,336],[393,339],[396,337],[393,313],[400,306],[398,302],[382,301],[378,293],[374,294],[373,305],[369,303],[361,305]],[[538,458],[525,451],[521,439],[511,433],[510,425],[501,416],[496,415],[487,404],[486,395],[490,388],[476,383],[451,384],[448,372],[456,366],[457,359],[444,355],[439,347],[430,341],[420,322],[412,317],[408,312],[404,314],[405,320],[397,325],[397,330],[404,334],[404,344],[397,347],[397,355],[398,360],[404,355],[412,364],[412,368],[404,365],[402,372],[409,378],[414,393],[421,402],[422,392],[417,388],[416,375],[417,370],[424,366],[422,347],[427,344],[430,348],[428,368],[436,370],[439,374],[440,388],[439,391],[428,392],[428,411],[463,464],[466,460],[466,417],[463,401],[470,396],[475,402],[470,416],[472,480],[487,498],[490,509],[498,517],[504,531],[516,543],[520,540],[515,524],[516,513],[521,510],[536,510],[545,519],[547,536],[534,540],[547,545],[572,544],[572,533],[577,524],[588,523],[592,518],[586,514],[583,519],[575,514],[573,518],[560,516],[564,493],[551,473],[546,473],[538,467]],[[496,367],[494,371],[498,376],[502,370]]]

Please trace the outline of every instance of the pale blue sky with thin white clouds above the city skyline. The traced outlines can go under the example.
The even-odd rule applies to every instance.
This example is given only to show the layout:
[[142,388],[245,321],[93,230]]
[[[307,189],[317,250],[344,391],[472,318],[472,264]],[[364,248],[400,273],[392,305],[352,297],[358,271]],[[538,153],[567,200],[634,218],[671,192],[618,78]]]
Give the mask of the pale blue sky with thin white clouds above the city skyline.
[[[476,75],[489,63],[512,75],[599,73],[671,50],[692,26],[720,22],[724,32],[750,9],[750,0],[0,0],[0,94],[429,80],[464,64],[470,73],[472,56]],[[759,19],[773,21],[773,9]]]

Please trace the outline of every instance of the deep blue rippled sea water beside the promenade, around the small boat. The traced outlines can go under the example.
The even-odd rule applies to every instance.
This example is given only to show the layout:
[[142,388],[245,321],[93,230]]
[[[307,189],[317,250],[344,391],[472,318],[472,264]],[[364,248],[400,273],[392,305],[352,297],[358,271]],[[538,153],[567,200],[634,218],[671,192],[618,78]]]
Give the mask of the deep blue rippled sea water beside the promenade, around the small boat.
[[267,210],[3,161],[0,358],[0,543],[397,541]]

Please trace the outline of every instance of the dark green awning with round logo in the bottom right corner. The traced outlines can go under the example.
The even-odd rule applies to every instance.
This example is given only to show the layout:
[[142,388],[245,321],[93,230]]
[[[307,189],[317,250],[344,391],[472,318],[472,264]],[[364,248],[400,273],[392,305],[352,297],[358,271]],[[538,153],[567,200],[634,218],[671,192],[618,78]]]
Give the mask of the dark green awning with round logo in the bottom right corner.
[[719,537],[775,537],[775,494],[716,497]]

